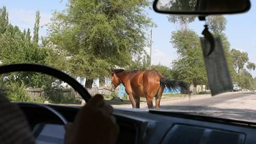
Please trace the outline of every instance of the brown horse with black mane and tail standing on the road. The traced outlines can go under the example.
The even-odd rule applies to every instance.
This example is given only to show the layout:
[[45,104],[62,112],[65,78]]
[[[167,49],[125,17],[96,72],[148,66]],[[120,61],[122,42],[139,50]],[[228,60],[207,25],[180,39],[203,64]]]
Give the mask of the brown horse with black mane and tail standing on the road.
[[[160,100],[165,87],[169,89],[180,88],[183,93],[189,94],[189,86],[183,81],[169,80],[164,78],[160,72],[155,70],[112,70],[111,91],[114,92],[120,84],[125,86],[125,92],[131,101],[133,108],[140,108],[140,97],[146,98],[148,109],[153,109],[153,98],[155,97],[155,108],[160,109]],[[191,95],[189,95],[189,100]]]

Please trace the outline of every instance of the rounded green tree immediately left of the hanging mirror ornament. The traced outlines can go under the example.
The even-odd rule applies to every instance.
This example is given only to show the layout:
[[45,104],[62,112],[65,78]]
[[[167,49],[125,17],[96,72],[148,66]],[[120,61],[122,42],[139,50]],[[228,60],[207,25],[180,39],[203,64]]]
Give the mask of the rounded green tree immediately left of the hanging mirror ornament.
[[172,32],[171,43],[178,55],[172,63],[177,78],[193,84],[195,88],[198,84],[207,84],[203,54],[196,32],[192,29]]

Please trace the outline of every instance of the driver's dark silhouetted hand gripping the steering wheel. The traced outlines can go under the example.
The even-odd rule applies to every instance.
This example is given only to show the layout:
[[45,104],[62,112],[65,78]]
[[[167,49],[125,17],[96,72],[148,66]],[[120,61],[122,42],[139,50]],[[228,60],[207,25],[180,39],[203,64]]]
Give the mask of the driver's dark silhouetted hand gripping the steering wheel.
[[65,144],[115,144],[119,128],[112,112],[102,95],[92,97],[73,124],[65,125]]

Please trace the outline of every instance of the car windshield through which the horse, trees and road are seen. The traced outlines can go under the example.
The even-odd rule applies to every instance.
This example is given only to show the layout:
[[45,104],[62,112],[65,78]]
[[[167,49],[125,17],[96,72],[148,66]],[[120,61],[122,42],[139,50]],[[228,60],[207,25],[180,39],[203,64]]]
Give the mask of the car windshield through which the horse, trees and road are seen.
[[[137,107],[140,101],[140,108],[148,109],[146,101],[156,107],[161,100],[160,108],[170,111],[256,121],[256,1],[251,3],[245,14],[207,17],[209,31],[221,36],[232,82],[237,83],[233,87],[238,87],[214,97],[199,39],[205,23],[197,17],[157,14],[147,0],[1,0],[0,63],[61,69],[116,108]],[[155,87],[140,82],[149,69],[156,70],[147,74],[158,84],[148,86]],[[64,82],[46,75],[16,72],[0,78],[1,93],[11,101],[84,104]],[[191,92],[183,92],[183,82],[181,89],[168,89],[170,80],[189,84]]]

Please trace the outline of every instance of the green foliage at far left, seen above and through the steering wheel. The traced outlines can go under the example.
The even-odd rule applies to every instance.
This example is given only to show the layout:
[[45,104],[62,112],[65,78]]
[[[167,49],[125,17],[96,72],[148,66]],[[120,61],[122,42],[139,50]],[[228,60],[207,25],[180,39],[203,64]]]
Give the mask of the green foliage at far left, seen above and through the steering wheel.
[[[51,43],[39,46],[40,12],[36,12],[34,35],[30,29],[21,31],[8,21],[6,7],[0,9],[0,60],[2,64],[10,63],[40,63],[54,66],[67,71],[69,63],[67,52],[59,52]],[[68,71],[67,71],[68,72]],[[6,77],[6,78],[4,78]],[[32,99],[26,88],[51,89],[56,79],[48,75],[35,72],[13,72],[0,76],[1,87],[6,89],[6,95],[12,101],[44,102],[44,98]],[[61,100],[64,101],[64,100]]]

